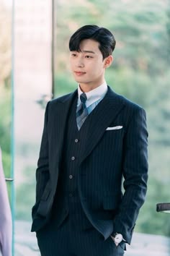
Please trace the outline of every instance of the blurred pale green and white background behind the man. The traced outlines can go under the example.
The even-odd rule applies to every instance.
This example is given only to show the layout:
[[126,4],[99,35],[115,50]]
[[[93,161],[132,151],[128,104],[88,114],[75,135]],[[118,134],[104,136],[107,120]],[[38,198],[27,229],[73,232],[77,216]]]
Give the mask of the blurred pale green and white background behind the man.
[[86,24],[115,35],[106,80],[146,109],[149,180],[131,247],[125,255],[170,255],[170,0],[0,0],[0,145],[14,222],[16,256],[40,255],[30,233],[35,169],[44,111],[50,98],[77,85],[68,65],[68,40]]

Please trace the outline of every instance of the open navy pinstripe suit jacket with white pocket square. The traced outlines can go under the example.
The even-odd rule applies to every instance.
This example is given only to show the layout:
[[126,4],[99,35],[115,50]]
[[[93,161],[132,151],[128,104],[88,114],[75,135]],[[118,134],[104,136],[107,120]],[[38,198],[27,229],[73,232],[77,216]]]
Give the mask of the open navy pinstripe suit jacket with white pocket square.
[[[68,110],[76,94],[77,90],[50,101],[46,107],[36,171],[32,231],[40,229],[50,218],[62,164]],[[143,108],[108,87],[107,94],[97,106],[95,119],[91,121],[78,159],[81,205],[104,239],[117,232],[130,244],[135,221],[146,196],[147,137]],[[81,175],[84,173],[86,176]]]

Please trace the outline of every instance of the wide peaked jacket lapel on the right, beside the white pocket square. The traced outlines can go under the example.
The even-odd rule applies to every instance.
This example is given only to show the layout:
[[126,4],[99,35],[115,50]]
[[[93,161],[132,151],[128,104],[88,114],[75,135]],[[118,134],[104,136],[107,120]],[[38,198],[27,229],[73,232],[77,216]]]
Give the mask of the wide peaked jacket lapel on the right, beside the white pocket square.
[[94,118],[91,119],[89,124],[89,134],[87,135],[84,150],[81,153],[80,164],[91,153],[97,142],[102,138],[102,135],[104,135],[107,127],[109,127],[109,124],[114,121],[123,107],[122,98],[108,87],[107,94],[97,108],[94,108]]

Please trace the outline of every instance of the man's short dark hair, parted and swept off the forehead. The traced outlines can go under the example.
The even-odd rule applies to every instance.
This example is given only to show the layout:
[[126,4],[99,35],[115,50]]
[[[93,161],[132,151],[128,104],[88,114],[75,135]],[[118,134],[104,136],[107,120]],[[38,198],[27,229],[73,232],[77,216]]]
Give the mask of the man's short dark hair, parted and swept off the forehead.
[[70,51],[81,51],[80,43],[84,39],[95,40],[99,43],[99,50],[102,52],[103,59],[112,55],[115,49],[116,41],[114,35],[104,27],[97,25],[85,25],[76,30],[70,38]]

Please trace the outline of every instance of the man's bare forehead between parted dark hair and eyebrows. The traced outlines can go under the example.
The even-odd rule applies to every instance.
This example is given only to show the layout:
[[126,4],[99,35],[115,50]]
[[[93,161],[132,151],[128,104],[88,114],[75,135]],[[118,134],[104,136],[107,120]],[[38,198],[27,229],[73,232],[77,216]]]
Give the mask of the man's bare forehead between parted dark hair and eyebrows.
[[101,54],[99,51],[99,43],[95,40],[91,39],[84,39],[80,43],[80,50],[81,51],[94,51],[95,54]]

